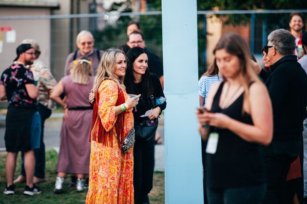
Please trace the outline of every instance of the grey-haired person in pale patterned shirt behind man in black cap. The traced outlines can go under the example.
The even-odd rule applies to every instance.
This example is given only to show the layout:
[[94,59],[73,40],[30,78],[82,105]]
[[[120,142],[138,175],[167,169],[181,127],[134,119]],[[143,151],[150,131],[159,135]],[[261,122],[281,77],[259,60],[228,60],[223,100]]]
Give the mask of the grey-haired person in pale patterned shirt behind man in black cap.
[[[40,55],[40,48],[38,42],[34,39],[24,39],[22,44],[31,44],[35,49],[35,61],[30,66],[30,69],[34,76],[34,81],[37,82],[38,87],[38,113],[40,115],[40,147],[34,151],[35,153],[35,173],[33,183],[37,184],[44,181],[45,178],[45,144],[44,144],[44,124],[45,120],[50,117],[51,109],[55,106],[53,100],[50,99],[49,94],[57,85],[57,81],[53,77],[49,68],[44,66],[42,61],[38,59]],[[22,183],[25,181],[25,170],[24,170],[24,159],[23,153],[21,156],[21,173],[15,183]]]

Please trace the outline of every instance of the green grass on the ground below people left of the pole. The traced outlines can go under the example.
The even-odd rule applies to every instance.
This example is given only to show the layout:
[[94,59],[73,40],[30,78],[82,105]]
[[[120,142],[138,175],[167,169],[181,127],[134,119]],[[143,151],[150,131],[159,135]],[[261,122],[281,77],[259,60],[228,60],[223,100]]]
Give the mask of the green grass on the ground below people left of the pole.
[[[53,193],[57,165],[58,153],[54,150],[46,152],[46,177],[45,182],[38,184],[42,193],[34,196],[24,196],[23,190],[25,184],[17,184],[15,195],[7,196],[2,193],[6,185],[5,178],[5,156],[6,153],[0,153],[0,203],[1,204],[84,204],[86,192],[77,193],[76,188],[68,187],[69,179],[66,179],[63,190],[64,194],[56,195]],[[20,172],[20,156],[17,160],[15,178]],[[164,172],[156,171],[153,175],[153,190],[150,195],[151,204],[164,204]]]

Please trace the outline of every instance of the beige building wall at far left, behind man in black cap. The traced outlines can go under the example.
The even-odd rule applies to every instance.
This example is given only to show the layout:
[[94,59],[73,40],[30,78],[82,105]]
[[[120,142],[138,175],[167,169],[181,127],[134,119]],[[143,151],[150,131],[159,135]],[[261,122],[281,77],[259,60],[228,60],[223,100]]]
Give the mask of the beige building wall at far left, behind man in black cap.
[[[50,8],[0,7],[1,16],[50,15]],[[41,54],[39,59],[50,67],[50,27],[49,19],[39,20],[0,20],[0,27],[9,26],[16,31],[16,41],[6,42],[6,32],[2,33],[3,48],[0,53],[0,72],[8,68],[16,57],[16,48],[21,40],[32,38],[38,41]]]

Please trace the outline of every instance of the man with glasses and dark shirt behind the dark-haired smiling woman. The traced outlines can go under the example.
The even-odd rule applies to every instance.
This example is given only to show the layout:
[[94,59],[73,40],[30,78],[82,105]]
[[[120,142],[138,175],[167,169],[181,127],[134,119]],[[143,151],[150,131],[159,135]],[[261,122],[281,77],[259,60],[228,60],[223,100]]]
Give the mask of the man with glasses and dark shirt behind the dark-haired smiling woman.
[[134,31],[128,35],[127,45],[130,48],[141,47],[143,48],[148,56],[148,67],[150,71],[155,73],[160,79],[160,83],[162,88],[164,86],[164,78],[163,78],[163,65],[160,58],[155,55],[152,51],[148,50],[145,46],[145,40],[143,34],[138,31]]

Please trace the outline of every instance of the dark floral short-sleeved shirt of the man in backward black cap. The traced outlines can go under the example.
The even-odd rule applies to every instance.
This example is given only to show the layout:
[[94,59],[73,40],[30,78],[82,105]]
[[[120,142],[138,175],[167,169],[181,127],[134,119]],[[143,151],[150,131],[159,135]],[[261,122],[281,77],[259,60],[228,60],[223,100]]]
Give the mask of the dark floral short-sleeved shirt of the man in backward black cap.
[[25,85],[34,84],[33,73],[22,64],[13,64],[1,74],[0,85],[5,86],[9,106],[36,107],[36,99],[32,99]]

